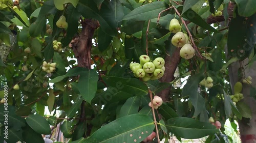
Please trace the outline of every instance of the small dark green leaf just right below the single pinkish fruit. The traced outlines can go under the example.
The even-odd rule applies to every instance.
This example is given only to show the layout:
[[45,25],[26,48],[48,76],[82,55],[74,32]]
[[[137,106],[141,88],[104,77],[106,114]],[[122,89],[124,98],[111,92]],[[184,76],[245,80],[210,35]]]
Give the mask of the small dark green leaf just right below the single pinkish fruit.
[[177,113],[175,110],[168,105],[162,104],[161,106],[158,107],[159,113],[164,117],[164,119],[167,121],[171,118],[178,117]]

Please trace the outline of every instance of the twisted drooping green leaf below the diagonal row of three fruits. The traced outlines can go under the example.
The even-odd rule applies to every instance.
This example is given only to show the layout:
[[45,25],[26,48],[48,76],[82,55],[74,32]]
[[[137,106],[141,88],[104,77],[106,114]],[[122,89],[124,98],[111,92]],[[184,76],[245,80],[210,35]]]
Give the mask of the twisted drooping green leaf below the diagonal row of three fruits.
[[197,117],[202,110],[205,110],[205,100],[198,92],[199,82],[203,79],[203,74],[191,76],[182,89],[182,96],[189,96],[195,107],[194,117]]

